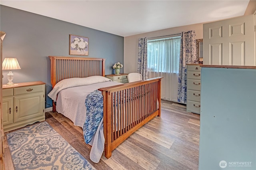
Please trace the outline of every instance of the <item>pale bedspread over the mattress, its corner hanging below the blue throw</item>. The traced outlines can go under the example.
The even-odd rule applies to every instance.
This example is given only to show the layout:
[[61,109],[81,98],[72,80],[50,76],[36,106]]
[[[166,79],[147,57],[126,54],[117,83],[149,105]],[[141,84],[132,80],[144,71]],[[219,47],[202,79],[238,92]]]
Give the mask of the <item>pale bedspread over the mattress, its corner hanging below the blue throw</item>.
[[[73,121],[74,125],[83,128],[86,118],[86,96],[96,89],[119,84],[122,83],[107,81],[91,85],[69,87],[66,89],[62,89],[58,93],[56,111],[58,111],[58,113],[62,113],[62,115],[64,115],[65,117],[68,117],[71,121]],[[92,146],[90,151],[90,159],[93,162],[98,163],[100,161],[102,152],[104,150],[104,142],[105,139],[103,131],[103,121],[101,121],[96,131],[96,134],[89,142],[89,144]]]

